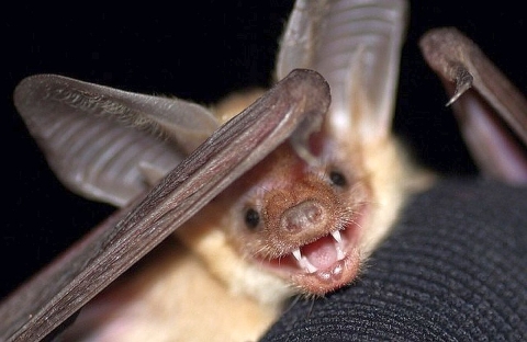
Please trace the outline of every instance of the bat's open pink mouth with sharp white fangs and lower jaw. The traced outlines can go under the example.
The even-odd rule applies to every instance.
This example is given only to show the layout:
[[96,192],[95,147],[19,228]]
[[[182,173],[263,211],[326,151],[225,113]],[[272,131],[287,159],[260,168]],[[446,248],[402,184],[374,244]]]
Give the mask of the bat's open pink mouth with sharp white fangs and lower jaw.
[[350,283],[359,271],[357,248],[360,226],[347,224],[315,241],[298,247],[261,265],[291,280],[303,292],[324,295]]

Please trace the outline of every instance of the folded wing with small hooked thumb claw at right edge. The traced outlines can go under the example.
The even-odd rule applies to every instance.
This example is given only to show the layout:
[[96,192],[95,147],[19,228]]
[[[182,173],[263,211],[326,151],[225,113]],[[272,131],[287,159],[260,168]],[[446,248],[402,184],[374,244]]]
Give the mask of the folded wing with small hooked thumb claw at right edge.
[[429,31],[419,45],[450,95],[447,104],[452,105],[482,172],[509,183],[527,183],[525,96],[453,27]]

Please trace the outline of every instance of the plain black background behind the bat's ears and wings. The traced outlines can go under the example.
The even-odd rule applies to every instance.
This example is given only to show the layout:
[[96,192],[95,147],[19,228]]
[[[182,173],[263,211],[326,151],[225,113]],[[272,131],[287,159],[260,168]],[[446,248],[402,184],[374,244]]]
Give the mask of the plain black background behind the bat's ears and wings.
[[[256,2],[256,1],[255,1]],[[247,86],[269,84],[292,1],[190,1],[166,8],[75,2],[10,3],[2,30],[4,224],[0,296],[46,264],[112,208],[66,191],[47,169],[12,105],[24,77],[53,72],[143,93],[212,103]],[[261,2],[261,3],[260,3]],[[265,2],[265,3],[264,3]],[[453,25],[471,36],[527,92],[520,2],[412,1],[395,129],[417,158],[445,174],[474,168],[447,99],[417,49],[428,29]]]

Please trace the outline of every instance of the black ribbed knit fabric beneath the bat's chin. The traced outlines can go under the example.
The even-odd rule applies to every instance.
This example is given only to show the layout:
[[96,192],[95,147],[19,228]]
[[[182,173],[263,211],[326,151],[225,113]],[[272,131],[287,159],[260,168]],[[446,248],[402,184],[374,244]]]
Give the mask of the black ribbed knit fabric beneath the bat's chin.
[[527,341],[527,189],[440,182],[354,285],[292,304],[262,341]]

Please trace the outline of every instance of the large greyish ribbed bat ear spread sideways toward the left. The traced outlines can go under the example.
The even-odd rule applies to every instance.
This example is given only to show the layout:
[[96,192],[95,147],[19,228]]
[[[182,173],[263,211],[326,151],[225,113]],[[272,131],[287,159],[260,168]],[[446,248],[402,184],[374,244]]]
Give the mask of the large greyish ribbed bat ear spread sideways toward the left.
[[54,75],[22,80],[14,104],[60,181],[116,206],[149,187],[142,164],[167,173],[218,126],[191,102]]

